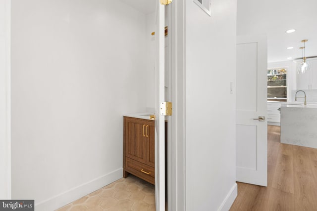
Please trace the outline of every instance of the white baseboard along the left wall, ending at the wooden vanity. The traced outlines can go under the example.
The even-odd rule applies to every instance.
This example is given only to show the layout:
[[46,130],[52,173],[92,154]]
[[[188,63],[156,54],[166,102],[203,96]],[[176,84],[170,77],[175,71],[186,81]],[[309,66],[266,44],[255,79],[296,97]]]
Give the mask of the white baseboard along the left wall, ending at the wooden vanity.
[[35,210],[38,211],[53,211],[61,208],[87,194],[90,194],[111,182],[122,178],[123,169],[116,169],[106,175],[93,179],[89,182],[74,187],[68,191],[53,196],[50,199],[35,204]]

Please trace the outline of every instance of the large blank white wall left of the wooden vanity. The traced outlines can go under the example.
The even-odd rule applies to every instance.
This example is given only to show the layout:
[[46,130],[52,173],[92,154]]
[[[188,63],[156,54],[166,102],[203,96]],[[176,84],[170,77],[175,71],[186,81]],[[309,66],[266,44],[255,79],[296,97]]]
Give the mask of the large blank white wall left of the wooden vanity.
[[12,198],[54,210],[122,177],[146,109],[145,15],[110,0],[12,0]]

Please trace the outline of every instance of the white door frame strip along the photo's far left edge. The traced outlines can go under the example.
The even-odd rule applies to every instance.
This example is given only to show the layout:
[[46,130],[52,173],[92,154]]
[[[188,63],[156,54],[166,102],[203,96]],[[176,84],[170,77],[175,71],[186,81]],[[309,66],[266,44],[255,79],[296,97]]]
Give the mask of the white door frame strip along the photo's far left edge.
[[11,199],[11,0],[0,1],[0,199]]

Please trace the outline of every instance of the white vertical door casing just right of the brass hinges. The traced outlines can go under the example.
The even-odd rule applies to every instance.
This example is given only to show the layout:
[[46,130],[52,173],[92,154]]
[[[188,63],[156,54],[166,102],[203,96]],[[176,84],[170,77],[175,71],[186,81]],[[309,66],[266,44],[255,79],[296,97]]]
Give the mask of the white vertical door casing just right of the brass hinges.
[[[172,45],[172,102],[171,117],[171,177],[169,188],[169,210],[185,211],[185,0],[176,0],[172,4],[172,25],[170,27]],[[170,209],[171,206],[171,209]]]

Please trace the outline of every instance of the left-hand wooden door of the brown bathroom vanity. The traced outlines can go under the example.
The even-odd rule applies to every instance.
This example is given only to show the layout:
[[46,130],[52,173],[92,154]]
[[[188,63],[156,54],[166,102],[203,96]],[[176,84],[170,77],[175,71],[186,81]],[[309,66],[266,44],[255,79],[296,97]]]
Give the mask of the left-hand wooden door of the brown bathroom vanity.
[[135,118],[126,118],[125,156],[146,163],[146,124]]

